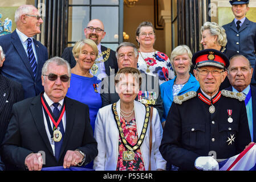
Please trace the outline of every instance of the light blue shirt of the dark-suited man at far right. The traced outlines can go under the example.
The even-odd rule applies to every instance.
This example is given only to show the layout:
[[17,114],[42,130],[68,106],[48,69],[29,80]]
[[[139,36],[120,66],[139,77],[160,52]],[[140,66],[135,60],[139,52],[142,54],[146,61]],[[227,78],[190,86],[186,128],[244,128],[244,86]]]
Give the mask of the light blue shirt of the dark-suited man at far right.
[[[238,91],[232,86],[233,92],[237,93]],[[250,85],[248,85],[242,93],[247,96],[247,94],[250,92]],[[252,97],[251,97],[252,98]],[[251,134],[251,141],[253,141],[253,101],[249,100],[249,102],[246,105],[246,113],[247,113],[247,118],[248,118],[248,125],[250,129],[250,134]]]

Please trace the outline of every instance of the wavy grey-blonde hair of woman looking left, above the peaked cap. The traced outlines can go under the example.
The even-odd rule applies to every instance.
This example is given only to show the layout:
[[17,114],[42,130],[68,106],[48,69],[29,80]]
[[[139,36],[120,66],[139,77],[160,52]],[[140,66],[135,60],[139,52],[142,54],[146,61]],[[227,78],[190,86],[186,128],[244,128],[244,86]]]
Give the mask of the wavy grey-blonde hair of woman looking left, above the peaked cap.
[[217,36],[218,45],[225,47],[227,44],[226,31],[223,27],[219,26],[215,22],[205,22],[201,27],[201,34],[203,31],[209,30],[212,36]]

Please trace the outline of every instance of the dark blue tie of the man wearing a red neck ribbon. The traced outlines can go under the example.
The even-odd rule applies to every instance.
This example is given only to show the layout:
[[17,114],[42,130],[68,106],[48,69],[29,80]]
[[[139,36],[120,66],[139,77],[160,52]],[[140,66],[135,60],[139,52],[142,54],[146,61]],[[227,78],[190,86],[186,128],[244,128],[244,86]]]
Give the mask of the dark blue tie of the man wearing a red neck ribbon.
[[[54,106],[53,114],[54,114],[54,117],[56,119],[59,116],[59,109],[58,109],[59,103],[57,102],[57,103],[54,103],[52,105]],[[60,121],[60,123],[58,125],[58,128],[59,128],[60,132],[62,133],[62,139],[60,139],[59,142],[54,142],[54,145],[55,145],[55,158],[56,158],[57,161],[59,160],[60,150],[62,148],[62,142],[63,142],[63,137],[64,137],[64,127],[63,127],[62,120]]]

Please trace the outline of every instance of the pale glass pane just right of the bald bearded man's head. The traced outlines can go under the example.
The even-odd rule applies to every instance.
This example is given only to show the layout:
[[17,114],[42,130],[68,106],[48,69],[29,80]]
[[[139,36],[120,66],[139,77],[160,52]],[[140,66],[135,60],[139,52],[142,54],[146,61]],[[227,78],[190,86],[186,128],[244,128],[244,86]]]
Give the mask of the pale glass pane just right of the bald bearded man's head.
[[101,42],[118,42],[119,7],[92,7],[92,19],[100,19],[106,35]]

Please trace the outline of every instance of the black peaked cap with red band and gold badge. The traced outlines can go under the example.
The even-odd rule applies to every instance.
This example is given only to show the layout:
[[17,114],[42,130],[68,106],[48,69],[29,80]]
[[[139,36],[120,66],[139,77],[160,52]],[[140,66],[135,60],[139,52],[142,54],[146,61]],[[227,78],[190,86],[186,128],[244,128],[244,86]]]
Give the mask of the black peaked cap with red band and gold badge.
[[229,58],[216,49],[204,49],[194,53],[192,63],[195,68],[217,67],[224,69],[229,67]]

